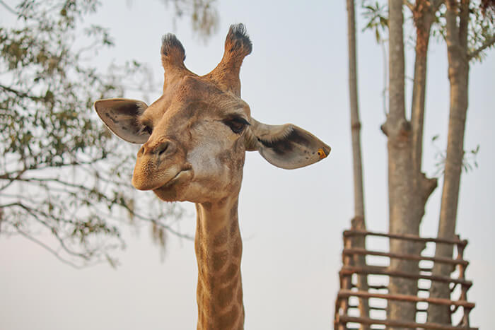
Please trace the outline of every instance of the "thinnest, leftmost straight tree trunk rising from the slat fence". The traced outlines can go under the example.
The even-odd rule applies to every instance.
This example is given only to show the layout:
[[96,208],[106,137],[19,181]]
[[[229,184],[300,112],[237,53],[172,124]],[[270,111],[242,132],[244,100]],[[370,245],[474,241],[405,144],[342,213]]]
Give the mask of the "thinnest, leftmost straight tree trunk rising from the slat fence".
[[[363,169],[361,160],[361,122],[359,122],[358,88],[357,88],[357,63],[356,63],[356,22],[354,13],[354,0],[347,0],[347,38],[349,44],[349,105],[351,110],[351,135],[352,135],[352,162],[354,172],[354,219],[352,227],[366,230],[364,221],[364,196],[363,196]],[[353,239],[353,247],[365,248],[363,236]],[[365,266],[364,256],[355,255],[354,264]],[[368,291],[366,275],[358,276],[357,287],[359,290]],[[368,299],[359,299],[359,312],[361,317],[368,317]],[[362,330],[369,329],[361,324]]]

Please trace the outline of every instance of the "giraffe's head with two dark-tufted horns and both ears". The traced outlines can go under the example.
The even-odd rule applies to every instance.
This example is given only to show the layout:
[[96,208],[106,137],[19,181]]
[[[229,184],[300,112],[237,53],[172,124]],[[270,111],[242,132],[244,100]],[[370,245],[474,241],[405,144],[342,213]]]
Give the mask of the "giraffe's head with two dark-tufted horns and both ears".
[[272,126],[251,117],[240,98],[239,80],[240,65],[251,49],[244,25],[232,25],[219,65],[197,76],[186,69],[179,40],[165,35],[165,83],[158,100],[149,106],[121,98],[95,102],[110,131],[142,144],[134,187],[153,190],[165,201],[221,201],[240,190],[245,151],[258,151],[286,169],[313,164],[330,153],[330,146],[298,126]]

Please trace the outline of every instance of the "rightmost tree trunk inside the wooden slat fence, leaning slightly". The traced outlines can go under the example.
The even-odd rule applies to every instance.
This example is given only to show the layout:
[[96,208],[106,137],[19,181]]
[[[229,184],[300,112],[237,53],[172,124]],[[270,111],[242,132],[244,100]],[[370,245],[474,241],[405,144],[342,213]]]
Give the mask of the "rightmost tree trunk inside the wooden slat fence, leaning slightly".
[[[445,13],[447,30],[448,78],[450,81],[450,114],[448,122],[447,153],[445,156],[445,176],[443,180],[438,237],[453,238],[458,209],[458,196],[462,158],[464,156],[464,132],[467,113],[467,86],[469,61],[467,58],[467,23],[469,1],[447,1]],[[459,20],[459,23],[457,21]],[[453,246],[437,244],[435,257],[452,257]],[[433,275],[450,276],[452,266],[435,264]],[[448,285],[432,283],[430,297],[450,297]],[[428,322],[450,324],[448,307],[429,305]]]

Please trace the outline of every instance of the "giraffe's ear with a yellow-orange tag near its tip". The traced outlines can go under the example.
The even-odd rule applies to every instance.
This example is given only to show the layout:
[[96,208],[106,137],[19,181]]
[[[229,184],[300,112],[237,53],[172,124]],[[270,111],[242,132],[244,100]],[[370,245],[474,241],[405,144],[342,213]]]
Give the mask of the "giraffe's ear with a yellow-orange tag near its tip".
[[291,170],[316,163],[330,154],[330,146],[293,124],[267,125],[251,118],[246,150],[257,150],[276,167]]

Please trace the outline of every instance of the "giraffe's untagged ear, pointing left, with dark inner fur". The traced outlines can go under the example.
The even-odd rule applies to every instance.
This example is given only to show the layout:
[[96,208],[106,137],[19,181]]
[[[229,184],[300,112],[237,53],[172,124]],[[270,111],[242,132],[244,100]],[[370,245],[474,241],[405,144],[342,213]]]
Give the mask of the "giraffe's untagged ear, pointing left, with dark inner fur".
[[120,139],[137,144],[146,143],[150,136],[138,120],[147,107],[145,102],[124,98],[95,102],[95,110],[108,129]]

